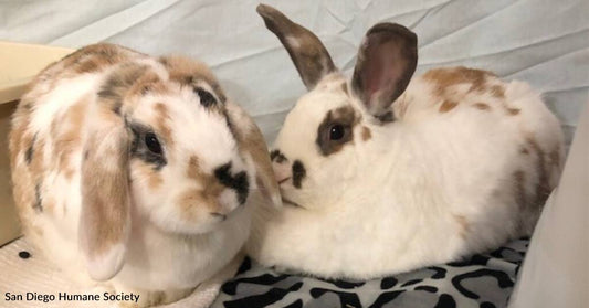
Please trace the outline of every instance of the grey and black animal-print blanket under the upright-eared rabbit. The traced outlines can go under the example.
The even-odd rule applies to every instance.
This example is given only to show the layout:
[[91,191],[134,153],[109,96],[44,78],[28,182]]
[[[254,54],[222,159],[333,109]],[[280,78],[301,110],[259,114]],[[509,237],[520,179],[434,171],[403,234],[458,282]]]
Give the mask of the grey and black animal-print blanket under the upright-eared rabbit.
[[462,262],[368,282],[278,273],[246,258],[213,308],[506,307],[528,240]]

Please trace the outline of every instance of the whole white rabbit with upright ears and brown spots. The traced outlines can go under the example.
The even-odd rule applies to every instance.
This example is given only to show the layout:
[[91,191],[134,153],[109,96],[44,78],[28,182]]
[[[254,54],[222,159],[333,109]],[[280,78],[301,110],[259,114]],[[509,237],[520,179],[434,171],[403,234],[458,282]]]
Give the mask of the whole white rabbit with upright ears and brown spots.
[[417,36],[392,23],[367,32],[348,83],[317,36],[267,6],[259,13],[309,92],[275,140],[285,206],[254,215],[254,258],[365,279],[532,233],[564,147],[527,84],[465,67],[411,78]]

